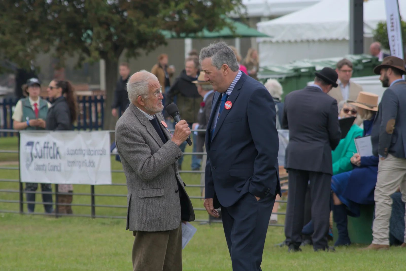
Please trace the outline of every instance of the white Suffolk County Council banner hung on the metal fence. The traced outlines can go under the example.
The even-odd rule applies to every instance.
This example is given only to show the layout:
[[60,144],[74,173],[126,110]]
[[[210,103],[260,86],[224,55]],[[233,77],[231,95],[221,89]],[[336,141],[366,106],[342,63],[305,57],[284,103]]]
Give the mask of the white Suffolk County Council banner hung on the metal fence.
[[111,184],[108,131],[20,131],[22,182]]

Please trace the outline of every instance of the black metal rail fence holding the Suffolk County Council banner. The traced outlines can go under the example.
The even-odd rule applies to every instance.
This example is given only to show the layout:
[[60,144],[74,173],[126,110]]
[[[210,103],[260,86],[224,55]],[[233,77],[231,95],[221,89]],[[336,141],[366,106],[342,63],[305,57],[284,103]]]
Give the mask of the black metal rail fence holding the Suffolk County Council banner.
[[[0,129],[0,133],[2,132],[13,132],[13,133],[18,133],[17,130],[10,130],[10,129]],[[204,131],[204,130],[195,130],[195,131]],[[42,131],[43,132],[43,131]],[[114,133],[114,131],[109,131],[110,133]],[[19,137],[18,137],[19,139]],[[1,138],[0,138],[1,140]],[[19,140],[18,140],[19,141]],[[19,142],[18,142],[18,151],[14,150],[0,150],[0,153],[18,153],[19,154]],[[194,154],[205,154],[205,153],[193,153],[193,152],[184,152],[184,155],[194,155]],[[110,155],[116,155],[116,154],[110,154]],[[19,170],[19,166],[0,166],[0,170]],[[111,170],[112,173],[124,173],[123,170]],[[192,173],[192,174],[201,174],[204,173],[203,170],[179,170],[179,173]],[[1,176],[1,174],[0,174]],[[183,178],[185,183],[187,183],[187,179]],[[282,180],[286,180],[287,177],[282,177]],[[0,210],[0,213],[19,213],[19,214],[35,214],[35,215],[48,215],[48,216],[55,216],[58,218],[59,216],[80,216],[80,217],[91,217],[91,218],[111,218],[111,219],[126,219],[126,216],[108,216],[108,215],[97,215],[96,214],[96,208],[127,208],[127,205],[107,205],[107,204],[96,204],[96,197],[127,197],[127,194],[103,194],[103,193],[95,193],[95,186],[90,185],[90,192],[89,193],[62,193],[58,192],[58,184],[54,184],[54,191],[52,192],[37,192],[37,191],[25,191],[23,188],[23,182],[21,182],[21,179],[0,179],[0,183],[2,182],[9,182],[9,183],[18,183],[19,184],[19,189],[0,189],[0,193],[18,193],[19,194],[19,199],[18,200],[11,200],[11,199],[1,199],[0,198],[0,203],[15,203],[19,204],[19,211],[14,211],[14,210]],[[77,185],[75,185],[77,186]],[[81,186],[86,186],[86,185],[81,185]],[[100,185],[100,186],[127,186],[126,184],[111,184],[111,185]],[[190,184],[186,185],[186,188],[203,188],[204,186],[200,184]],[[24,200],[24,193],[27,194],[51,194],[55,196],[55,201],[53,203],[47,203],[47,202],[35,202],[35,201],[26,201]],[[192,194],[192,193],[189,193]],[[59,195],[73,195],[73,196],[86,196],[90,197],[90,204],[80,204],[80,203],[58,203],[58,196]],[[189,196],[190,199],[204,199],[204,197],[200,196]],[[279,203],[286,203],[287,201],[284,200],[279,200],[276,201]],[[27,203],[35,203],[36,205],[54,205],[54,210],[55,213],[53,214],[47,214],[47,213],[42,213],[42,212],[24,212],[24,204]],[[58,213],[58,205],[69,205],[69,206],[80,206],[80,207],[90,207],[91,208],[91,213],[90,214],[60,214]],[[203,203],[202,203],[203,205]],[[198,212],[206,212],[205,208],[194,208],[194,211]],[[274,212],[272,214],[280,214],[280,215],[286,215],[284,212]],[[212,219],[209,216],[209,219],[196,219],[195,221],[198,222],[204,222],[204,223],[221,223],[221,220],[216,220]],[[281,224],[270,224],[270,226],[278,226],[278,227],[284,227],[284,225]]]

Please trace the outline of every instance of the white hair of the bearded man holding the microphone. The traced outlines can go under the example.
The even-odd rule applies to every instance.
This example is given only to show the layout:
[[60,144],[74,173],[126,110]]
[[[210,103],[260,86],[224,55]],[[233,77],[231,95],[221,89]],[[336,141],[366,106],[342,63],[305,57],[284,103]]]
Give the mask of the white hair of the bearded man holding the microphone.
[[[133,76],[134,79],[131,80]],[[138,96],[147,96],[149,94],[149,83],[152,80],[158,80],[158,78],[146,70],[140,70],[130,77],[127,82],[127,92],[131,103],[136,101]]]

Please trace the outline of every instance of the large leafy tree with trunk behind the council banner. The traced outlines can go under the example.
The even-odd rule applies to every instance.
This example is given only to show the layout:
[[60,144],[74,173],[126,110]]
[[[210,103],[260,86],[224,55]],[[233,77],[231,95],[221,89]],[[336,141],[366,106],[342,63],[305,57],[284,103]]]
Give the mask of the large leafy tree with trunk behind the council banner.
[[[106,61],[106,110],[110,109],[117,63],[166,44],[160,30],[177,34],[219,30],[225,15],[242,0],[2,0],[0,57],[28,67],[39,52],[54,49],[64,66],[67,56]],[[106,112],[106,128],[113,121]]]

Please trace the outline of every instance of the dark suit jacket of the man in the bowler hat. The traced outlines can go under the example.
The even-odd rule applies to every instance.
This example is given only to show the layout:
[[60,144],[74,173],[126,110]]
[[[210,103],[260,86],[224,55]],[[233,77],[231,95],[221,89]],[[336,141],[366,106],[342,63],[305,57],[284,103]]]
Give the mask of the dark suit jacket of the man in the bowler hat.
[[281,125],[289,130],[285,168],[333,175],[331,151],[341,139],[335,98],[311,86],[291,92]]

